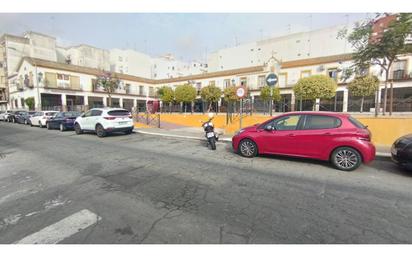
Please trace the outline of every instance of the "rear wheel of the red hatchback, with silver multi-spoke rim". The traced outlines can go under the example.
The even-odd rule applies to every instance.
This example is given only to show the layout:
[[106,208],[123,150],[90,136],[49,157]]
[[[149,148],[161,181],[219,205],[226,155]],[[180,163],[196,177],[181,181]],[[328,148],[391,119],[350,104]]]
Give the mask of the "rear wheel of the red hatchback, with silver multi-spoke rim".
[[352,147],[339,147],[333,151],[331,162],[339,170],[352,171],[362,164],[362,156]]

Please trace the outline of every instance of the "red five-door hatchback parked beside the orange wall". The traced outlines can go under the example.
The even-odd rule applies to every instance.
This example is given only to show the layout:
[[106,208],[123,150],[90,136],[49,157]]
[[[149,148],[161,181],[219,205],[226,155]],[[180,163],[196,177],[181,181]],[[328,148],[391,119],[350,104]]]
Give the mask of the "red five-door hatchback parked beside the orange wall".
[[239,130],[233,149],[244,157],[276,154],[330,161],[352,171],[375,158],[371,133],[348,114],[290,112]]

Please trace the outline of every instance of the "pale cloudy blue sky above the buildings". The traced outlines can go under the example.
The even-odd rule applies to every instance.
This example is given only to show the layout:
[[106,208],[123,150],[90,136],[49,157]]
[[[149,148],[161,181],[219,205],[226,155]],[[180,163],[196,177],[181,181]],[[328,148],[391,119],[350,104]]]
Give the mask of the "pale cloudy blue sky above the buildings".
[[368,13],[0,13],[0,34],[36,31],[63,46],[134,49],[183,61],[236,44],[350,24]]

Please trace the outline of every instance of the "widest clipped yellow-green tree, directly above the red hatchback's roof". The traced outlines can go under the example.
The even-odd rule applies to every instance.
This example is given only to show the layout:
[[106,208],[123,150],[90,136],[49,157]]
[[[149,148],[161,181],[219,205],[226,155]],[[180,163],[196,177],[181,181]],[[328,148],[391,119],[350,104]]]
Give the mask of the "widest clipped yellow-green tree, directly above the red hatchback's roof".
[[[301,78],[293,87],[296,98],[300,100],[329,99],[335,96],[336,89],[336,81],[325,75]],[[315,109],[315,105],[313,109]]]

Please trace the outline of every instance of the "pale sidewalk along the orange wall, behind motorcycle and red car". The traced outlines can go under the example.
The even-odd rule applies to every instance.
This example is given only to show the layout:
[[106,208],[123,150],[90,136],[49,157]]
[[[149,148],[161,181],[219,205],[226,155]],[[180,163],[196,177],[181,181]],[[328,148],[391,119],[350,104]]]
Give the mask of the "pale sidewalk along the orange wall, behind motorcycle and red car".
[[[172,127],[172,128],[171,128]],[[154,135],[154,136],[164,136],[164,137],[174,137],[183,139],[196,139],[205,140],[204,131],[201,127],[183,127],[183,126],[171,126],[169,128],[135,128],[135,132],[140,134]],[[222,133],[223,130],[215,129],[216,132]],[[232,136],[221,135],[219,141],[232,142]],[[380,158],[390,158],[391,149],[390,146],[376,146],[376,156]]]

